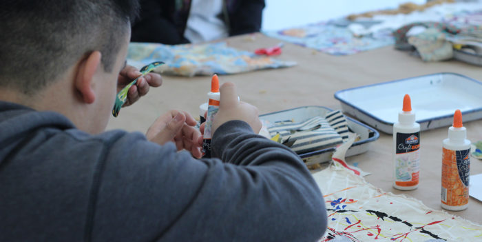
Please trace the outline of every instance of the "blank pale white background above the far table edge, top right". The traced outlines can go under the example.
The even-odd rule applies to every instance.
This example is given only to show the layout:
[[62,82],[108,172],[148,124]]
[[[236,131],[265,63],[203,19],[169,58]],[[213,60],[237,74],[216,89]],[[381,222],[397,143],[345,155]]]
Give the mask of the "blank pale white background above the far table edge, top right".
[[265,0],[262,30],[280,30],[386,8],[397,8],[408,1],[426,0]]

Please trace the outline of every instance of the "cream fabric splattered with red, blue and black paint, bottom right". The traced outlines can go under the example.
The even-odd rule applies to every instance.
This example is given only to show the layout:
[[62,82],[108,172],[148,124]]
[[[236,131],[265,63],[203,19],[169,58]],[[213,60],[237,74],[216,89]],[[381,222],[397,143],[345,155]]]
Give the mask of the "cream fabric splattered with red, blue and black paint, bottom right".
[[421,201],[384,192],[352,171],[331,166],[313,174],[324,194],[328,230],[319,241],[479,241],[482,225]]

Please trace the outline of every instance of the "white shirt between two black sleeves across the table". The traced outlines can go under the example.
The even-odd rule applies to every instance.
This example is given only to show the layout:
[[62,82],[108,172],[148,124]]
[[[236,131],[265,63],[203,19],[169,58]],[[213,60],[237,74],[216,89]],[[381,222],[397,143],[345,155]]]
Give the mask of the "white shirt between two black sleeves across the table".
[[228,37],[222,14],[222,0],[193,0],[184,37],[191,43],[200,43]]

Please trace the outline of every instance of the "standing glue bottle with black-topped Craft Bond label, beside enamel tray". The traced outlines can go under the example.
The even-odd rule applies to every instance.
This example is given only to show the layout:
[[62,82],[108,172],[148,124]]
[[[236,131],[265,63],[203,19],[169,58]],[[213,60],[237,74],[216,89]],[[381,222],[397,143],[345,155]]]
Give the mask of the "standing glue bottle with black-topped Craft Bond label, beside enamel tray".
[[398,190],[414,190],[419,186],[420,173],[420,125],[415,122],[410,96],[405,94],[404,107],[393,125],[393,187]]

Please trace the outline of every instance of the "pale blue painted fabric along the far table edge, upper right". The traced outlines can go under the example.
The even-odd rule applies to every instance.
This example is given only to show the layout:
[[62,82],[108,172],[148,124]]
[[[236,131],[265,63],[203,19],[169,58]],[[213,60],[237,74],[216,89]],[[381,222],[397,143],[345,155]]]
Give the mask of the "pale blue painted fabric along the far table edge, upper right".
[[410,14],[375,15],[364,21],[334,19],[297,28],[266,31],[269,37],[282,39],[333,55],[348,55],[395,43],[392,31],[414,22],[434,21],[454,26],[480,25],[481,3],[451,3]]

